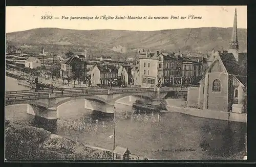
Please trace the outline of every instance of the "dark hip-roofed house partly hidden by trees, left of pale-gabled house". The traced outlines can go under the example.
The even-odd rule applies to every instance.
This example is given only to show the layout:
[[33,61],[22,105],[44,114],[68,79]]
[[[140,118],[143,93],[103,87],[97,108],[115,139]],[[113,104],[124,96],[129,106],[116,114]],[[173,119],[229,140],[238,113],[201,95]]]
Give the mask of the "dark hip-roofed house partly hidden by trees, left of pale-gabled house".
[[[68,59],[65,59],[64,61],[61,62],[60,64],[60,76],[62,78],[68,78],[73,76],[73,70],[74,68],[73,64],[81,64],[83,65],[82,61],[77,58],[76,56],[71,56]],[[83,67],[81,67],[83,69]]]

